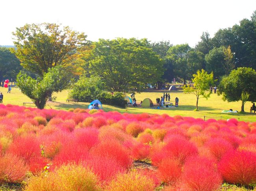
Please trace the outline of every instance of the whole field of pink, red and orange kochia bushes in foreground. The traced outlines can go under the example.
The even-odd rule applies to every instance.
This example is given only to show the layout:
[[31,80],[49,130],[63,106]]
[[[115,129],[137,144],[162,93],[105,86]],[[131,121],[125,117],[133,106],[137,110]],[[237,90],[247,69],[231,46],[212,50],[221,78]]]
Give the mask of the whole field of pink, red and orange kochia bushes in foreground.
[[255,132],[256,123],[235,119],[0,105],[0,184],[25,180],[25,190],[39,191],[251,186]]

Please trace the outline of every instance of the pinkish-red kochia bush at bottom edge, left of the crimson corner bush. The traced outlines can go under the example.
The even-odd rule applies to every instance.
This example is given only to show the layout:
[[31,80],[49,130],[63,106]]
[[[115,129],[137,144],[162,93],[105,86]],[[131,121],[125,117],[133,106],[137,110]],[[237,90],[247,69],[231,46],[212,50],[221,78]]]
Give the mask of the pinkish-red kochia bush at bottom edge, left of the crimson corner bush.
[[214,161],[205,157],[189,157],[184,164],[182,187],[195,191],[215,191],[222,183]]

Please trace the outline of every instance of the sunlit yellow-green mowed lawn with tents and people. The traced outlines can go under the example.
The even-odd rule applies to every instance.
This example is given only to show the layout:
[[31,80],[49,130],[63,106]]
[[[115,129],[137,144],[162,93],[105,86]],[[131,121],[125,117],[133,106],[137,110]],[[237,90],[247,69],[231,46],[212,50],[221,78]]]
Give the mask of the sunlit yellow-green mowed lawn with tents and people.
[[[7,94],[7,88],[0,87],[0,91],[4,95],[3,104],[13,104],[22,106],[23,102],[31,102],[30,98],[23,95],[18,88],[13,87],[11,93]],[[181,116],[191,116],[195,118],[204,118],[208,120],[209,118],[219,119],[229,119],[236,118],[237,120],[256,122],[256,114],[249,113],[251,102],[246,102],[245,104],[245,114],[236,113],[221,113],[223,110],[233,109],[233,111],[241,110],[241,101],[239,102],[224,102],[221,96],[217,94],[211,94],[210,98],[206,100],[205,98],[200,98],[198,102],[200,111],[193,111],[196,105],[196,96],[193,94],[184,94],[183,91],[153,91],[153,92],[143,92],[135,94],[137,102],[144,100],[145,98],[150,98],[154,104],[156,104],[156,98],[160,98],[164,92],[170,93],[171,103],[175,104],[174,100],[176,97],[179,98],[179,107],[162,108],[162,109],[151,109],[143,107],[116,107],[103,105],[104,111],[118,111],[121,113],[150,113],[150,114],[167,114],[170,116],[181,115]],[[46,104],[46,109],[64,109],[69,108],[88,108],[89,103],[79,102],[79,103],[66,103],[68,97],[68,91],[62,91],[60,93],[55,93],[56,102],[48,102]],[[32,106],[34,107],[34,106]]]

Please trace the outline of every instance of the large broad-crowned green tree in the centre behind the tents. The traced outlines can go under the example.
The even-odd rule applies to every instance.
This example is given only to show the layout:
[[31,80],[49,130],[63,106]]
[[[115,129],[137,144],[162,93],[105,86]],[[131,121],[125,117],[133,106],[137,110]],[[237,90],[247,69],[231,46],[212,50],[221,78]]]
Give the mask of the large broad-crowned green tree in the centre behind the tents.
[[100,76],[111,91],[140,91],[163,75],[163,61],[147,39],[100,39],[93,45],[90,74]]

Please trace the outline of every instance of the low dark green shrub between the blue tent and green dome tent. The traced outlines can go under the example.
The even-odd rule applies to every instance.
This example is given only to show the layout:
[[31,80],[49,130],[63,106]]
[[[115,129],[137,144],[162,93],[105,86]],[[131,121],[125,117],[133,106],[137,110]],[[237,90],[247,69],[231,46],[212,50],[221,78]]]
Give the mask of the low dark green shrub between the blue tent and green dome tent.
[[121,92],[114,92],[113,95],[107,91],[102,91],[100,94],[96,96],[98,100],[102,104],[114,105],[125,107],[127,105],[127,101],[124,100],[125,95]]

